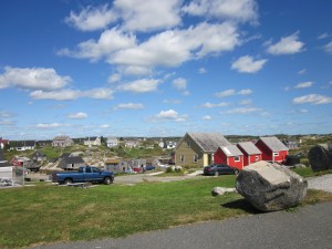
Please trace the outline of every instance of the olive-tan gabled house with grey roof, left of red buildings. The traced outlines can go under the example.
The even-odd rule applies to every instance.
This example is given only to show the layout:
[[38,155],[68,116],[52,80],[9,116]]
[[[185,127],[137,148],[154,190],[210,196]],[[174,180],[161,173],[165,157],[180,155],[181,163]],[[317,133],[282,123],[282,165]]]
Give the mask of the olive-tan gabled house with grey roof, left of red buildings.
[[230,143],[219,133],[186,133],[175,148],[175,164],[180,166],[206,166],[212,164],[219,146]]

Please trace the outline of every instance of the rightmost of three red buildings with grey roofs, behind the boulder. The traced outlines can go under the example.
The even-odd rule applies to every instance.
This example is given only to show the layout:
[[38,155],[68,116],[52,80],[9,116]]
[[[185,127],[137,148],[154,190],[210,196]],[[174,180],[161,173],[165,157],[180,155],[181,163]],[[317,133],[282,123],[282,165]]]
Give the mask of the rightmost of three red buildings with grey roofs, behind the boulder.
[[288,147],[276,136],[259,137],[256,146],[262,153],[263,160],[282,163],[288,155]]

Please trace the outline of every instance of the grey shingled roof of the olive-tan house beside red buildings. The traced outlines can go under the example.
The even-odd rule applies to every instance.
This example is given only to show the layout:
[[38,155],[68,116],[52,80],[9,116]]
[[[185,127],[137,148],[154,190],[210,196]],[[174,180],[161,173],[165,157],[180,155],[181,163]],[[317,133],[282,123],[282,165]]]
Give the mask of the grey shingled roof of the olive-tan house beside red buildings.
[[187,133],[188,136],[204,151],[215,153],[218,147],[230,145],[220,133]]

